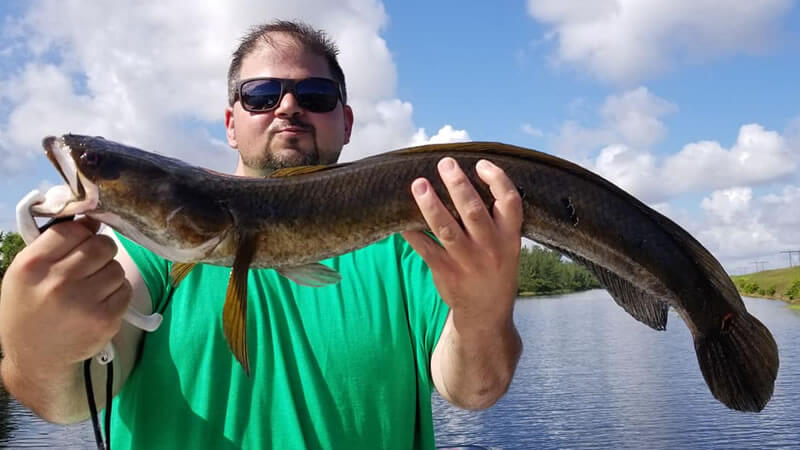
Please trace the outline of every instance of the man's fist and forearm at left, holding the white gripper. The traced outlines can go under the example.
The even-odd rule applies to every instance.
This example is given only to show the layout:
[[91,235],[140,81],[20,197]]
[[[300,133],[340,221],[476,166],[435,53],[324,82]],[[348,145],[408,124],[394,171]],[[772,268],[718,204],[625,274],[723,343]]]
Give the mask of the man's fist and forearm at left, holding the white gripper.
[[[113,337],[114,393],[130,374],[142,331],[122,323],[128,304],[152,310],[133,261],[98,223],[54,225],[20,252],[0,292],[0,375],[6,389],[43,419],[89,417],[83,361]],[[105,404],[106,369],[92,362],[94,395]],[[101,406],[102,407],[102,406]]]

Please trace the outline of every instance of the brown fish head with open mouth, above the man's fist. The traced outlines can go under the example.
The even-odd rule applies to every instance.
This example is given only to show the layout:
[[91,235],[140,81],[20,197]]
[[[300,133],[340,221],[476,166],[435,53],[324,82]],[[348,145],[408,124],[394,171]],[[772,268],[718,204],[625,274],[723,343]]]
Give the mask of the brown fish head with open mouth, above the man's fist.
[[88,215],[178,262],[201,260],[232,228],[207,171],[102,137],[51,136],[42,145],[72,196],[51,216]]

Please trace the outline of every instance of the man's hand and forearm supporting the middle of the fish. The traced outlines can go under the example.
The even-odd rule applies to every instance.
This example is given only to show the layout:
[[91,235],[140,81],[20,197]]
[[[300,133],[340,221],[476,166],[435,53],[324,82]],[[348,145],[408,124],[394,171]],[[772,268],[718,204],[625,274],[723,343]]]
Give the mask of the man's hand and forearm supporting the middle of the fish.
[[500,168],[481,161],[477,172],[495,197],[492,214],[457,163],[444,158],[439,174],[463,228],[430,182],[418,179],[412,192],[441,245],[421,232],[403,234],[450,306],[431,359],[434,384],[445,399],[469,409],[487,408],[506,392],[522,353],[513,322],[522,202]]

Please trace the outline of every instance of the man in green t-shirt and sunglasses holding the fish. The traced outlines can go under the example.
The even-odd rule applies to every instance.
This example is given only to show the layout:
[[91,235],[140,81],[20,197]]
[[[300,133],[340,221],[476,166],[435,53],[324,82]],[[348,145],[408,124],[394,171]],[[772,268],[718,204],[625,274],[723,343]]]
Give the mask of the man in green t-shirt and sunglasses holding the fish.
[[[237,175],[338,159],[353,112],[336,53],[324,34],[292,22],[245,37],[225,111]],[[496,198],[490,213],[452,159],[439,168],[463,228],[428,180],[410,186],[439,243],[409,232],[332,258],[324,263],[342,281],[322,288],[250,271],[249,377],[222,334],[229,268],[195,268],[167,306],[170,263],[96,234],[90,220],[53,226],[3,283],[3,380],[47,420],[85,420],[81,362],[113,337],[116,449],[431,448],[432,388],[488,407],[521,352],[512,321],[519,195],[479,163]],[[143,335],[122,324],[129,303],[163,310],[161,328]],[[105,372],[93,371],[104,386]]]

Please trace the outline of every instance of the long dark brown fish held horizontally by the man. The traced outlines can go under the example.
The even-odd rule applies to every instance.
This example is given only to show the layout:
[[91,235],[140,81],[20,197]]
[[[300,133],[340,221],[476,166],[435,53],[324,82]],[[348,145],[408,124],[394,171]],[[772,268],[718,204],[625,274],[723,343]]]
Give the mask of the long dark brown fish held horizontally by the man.
[[338,281],[318,261],[426,228],[409,189],[417,177],[427,177],[457,217],[436,169],[451,156],[487,205],[493,197],[475,163],[501,167],[523,199],[522,234],[583,264],[634,318],[663,330],[674,308],[722,403],[760,411],[772,395],[777,346],[719,262],[671,220],[554,156],[497,143],[441,144],[244,178],[98,137],[48,137],[43,145],[74,196],[55,215],[94,217],[178,263],[176,283],[193,264],[232,267],[223,329],[248,373],[248,269],[273,268],[312,286]]

